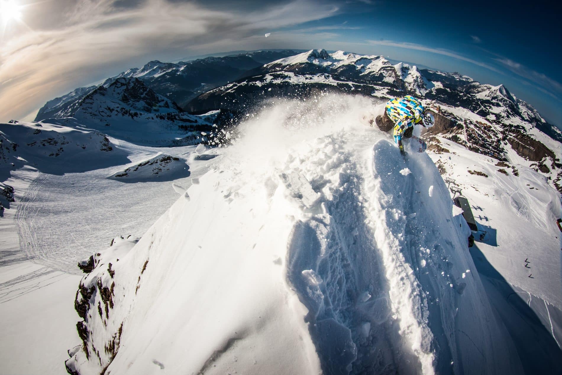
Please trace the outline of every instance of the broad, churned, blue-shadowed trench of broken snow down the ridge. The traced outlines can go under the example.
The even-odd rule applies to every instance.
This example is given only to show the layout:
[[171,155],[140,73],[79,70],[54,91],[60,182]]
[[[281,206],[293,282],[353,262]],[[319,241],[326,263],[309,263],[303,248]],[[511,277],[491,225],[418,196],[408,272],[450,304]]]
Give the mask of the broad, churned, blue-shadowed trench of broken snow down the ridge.
[[[288,281],[309,309],[306,320],[325,373],[431,374],[423,293],[401,253],[405,219],[389,207],[400,202],[384,195],[369,166],[373,143],[349,144],[346,150],[340,144],[347,137],[342,132],[319,138],[313,155],[301,155],[289,166],[322,198],[293,227]],[[392,144],[382,144],[388,144],[387,157],[395,156]],[[386,163],[391,164],[398,165]],[[400,169],[392,175],[402,178]],[[370,201],[377,196],[388,201]]]

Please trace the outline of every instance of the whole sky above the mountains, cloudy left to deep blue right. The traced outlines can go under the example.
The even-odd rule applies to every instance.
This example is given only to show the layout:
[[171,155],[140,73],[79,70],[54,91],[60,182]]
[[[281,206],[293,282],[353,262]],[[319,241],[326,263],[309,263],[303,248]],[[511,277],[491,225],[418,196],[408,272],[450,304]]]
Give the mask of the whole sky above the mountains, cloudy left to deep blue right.
[[0,15],[4,121],[31,116],[51,98],[151,60],[325,48],[503,83],[551,123],[562,125],[561,12],[552,4],[0,0],[6,1],[20,14]]

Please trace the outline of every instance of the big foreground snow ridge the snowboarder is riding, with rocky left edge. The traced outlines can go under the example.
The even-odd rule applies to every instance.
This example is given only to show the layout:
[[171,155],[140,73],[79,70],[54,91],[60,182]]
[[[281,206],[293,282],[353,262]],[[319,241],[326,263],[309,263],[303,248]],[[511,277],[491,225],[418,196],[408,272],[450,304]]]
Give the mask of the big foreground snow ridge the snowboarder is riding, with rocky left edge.
[[523,373],[436,166],[361,124],[370,103],[282,102],[248,120],[190,199],[94,257],[67,367]]

